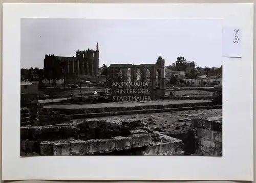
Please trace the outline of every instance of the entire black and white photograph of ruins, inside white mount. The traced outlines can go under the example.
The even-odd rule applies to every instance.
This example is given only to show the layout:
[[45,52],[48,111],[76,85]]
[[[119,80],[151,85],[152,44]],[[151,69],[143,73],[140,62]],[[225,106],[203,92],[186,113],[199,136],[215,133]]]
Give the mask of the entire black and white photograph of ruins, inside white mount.
[[20,156],[222,156],[220,20],[20,26]]

